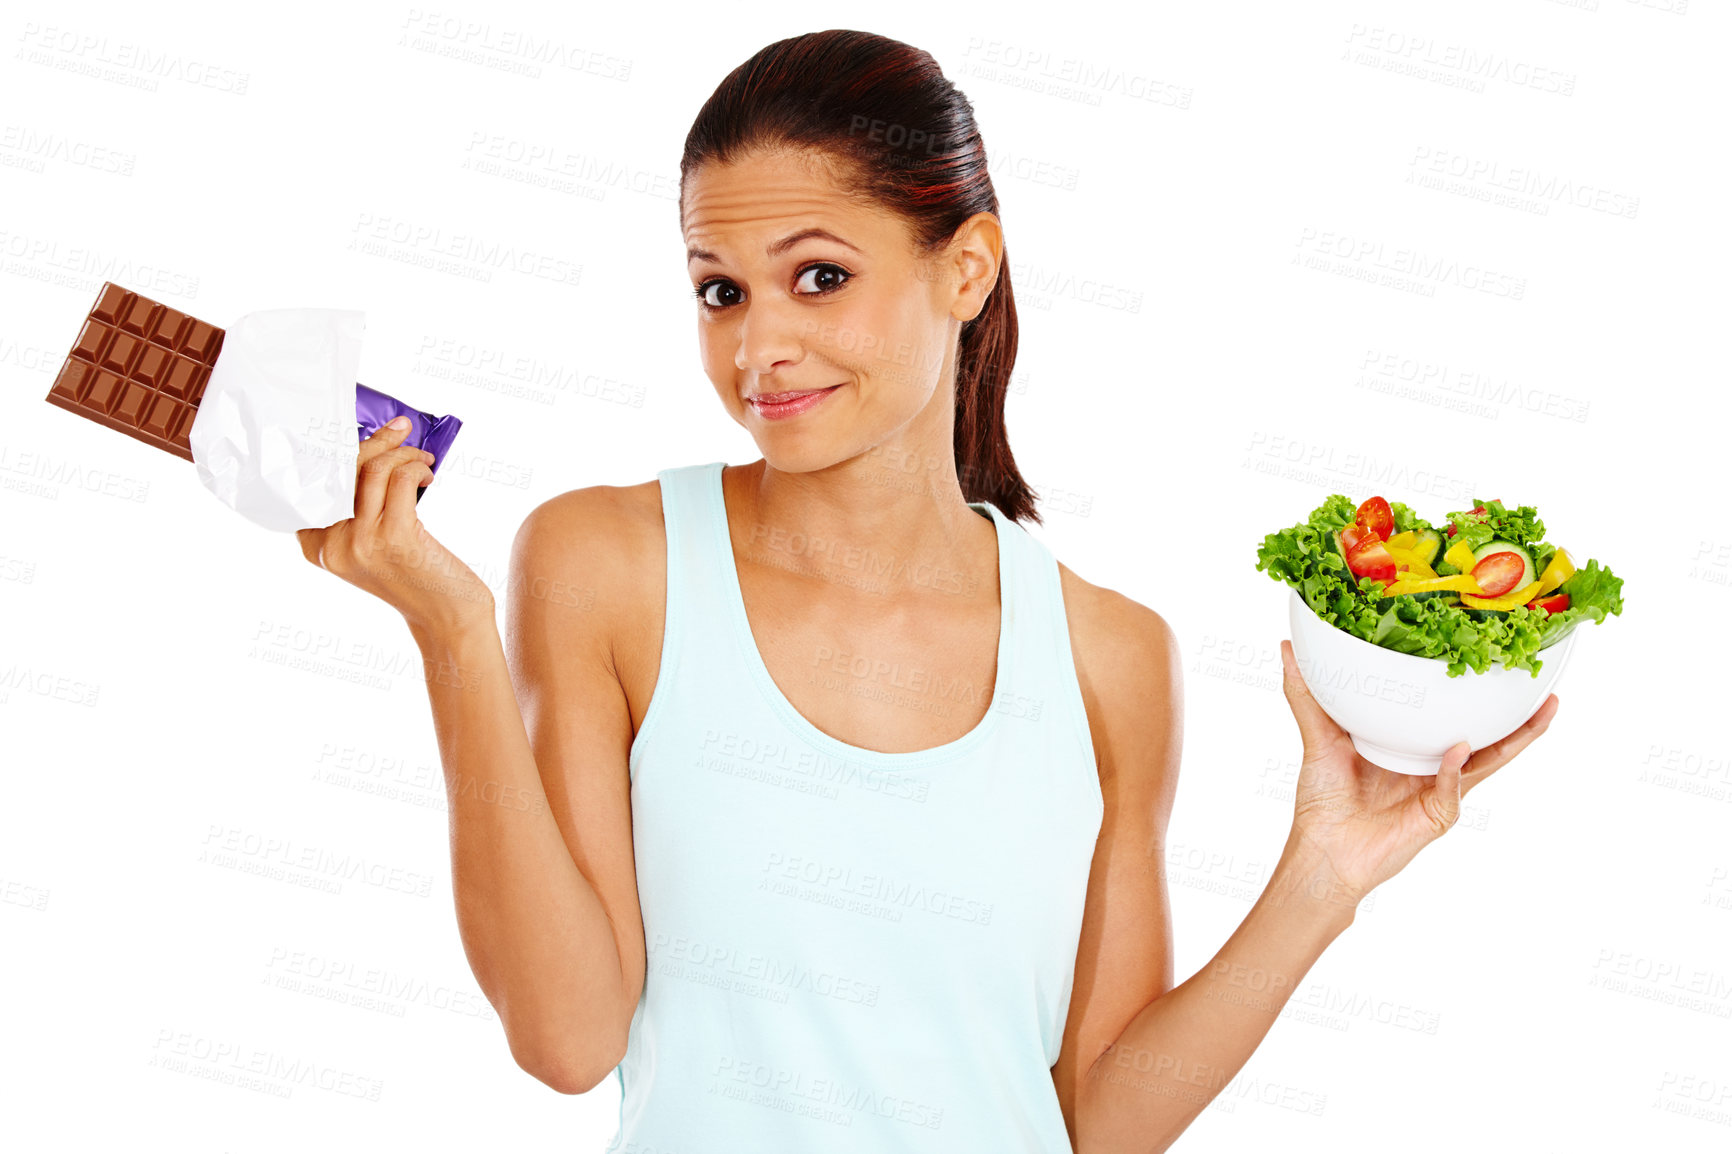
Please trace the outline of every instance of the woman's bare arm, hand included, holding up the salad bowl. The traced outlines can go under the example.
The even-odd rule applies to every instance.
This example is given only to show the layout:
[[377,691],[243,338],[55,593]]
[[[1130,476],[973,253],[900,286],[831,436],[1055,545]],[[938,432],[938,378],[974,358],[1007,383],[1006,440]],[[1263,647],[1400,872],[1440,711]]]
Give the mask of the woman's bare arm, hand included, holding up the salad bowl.
[[1103,723],[1095,745],[1107,813],[1053,1078],[1077,1154],[1159,1154],[1251,1059],[1365,894],[1455,823],[1462,794],[1545,731],[1557,697],[1495,745],[1458,743],[1436,776],[1391,773],[1358,755],[1282,641],[1283,693],[1304,742],[1294,825],[1245,920],[1173,986],[1166,828],[1183,671],[1157,613],[1121,598],[1110,617],[1114,639],[1089,646],[1084,674]]

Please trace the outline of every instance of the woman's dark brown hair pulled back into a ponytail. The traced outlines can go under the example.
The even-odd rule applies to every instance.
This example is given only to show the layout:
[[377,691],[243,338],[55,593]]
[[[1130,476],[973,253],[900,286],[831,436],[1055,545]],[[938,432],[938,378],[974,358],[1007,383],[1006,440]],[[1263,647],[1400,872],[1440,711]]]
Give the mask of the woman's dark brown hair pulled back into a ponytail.
[[[842,161],[859,196],[901,213],[927,253],[980,211],[998,213],[973,106],[928,52],[831,28],[778,40],[717,85],[686,133],[686,178],[710,161],[762,147],[814,149]],[[1017,360],[1010,260],[956,350],[956,475],[966,501],[1039,523],[1034,490],[1005,435],[1005,392]]]

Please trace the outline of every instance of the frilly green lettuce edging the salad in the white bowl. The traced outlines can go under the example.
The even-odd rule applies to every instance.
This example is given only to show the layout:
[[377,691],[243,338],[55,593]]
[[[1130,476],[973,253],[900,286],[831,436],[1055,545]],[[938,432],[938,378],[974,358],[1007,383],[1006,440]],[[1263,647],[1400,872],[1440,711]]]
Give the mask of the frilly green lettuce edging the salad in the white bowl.
[[[1507,509],[1500,501],[1476,501],[1486,508],[1483,518],[1450,513],[1455,539],[1477,548],[1493,537],[1514,541],[1535,553],[1535,565],[1545,567],[1557,546],[1541,541],[1545,523],[1538,509],[1524,504]],[[1431,528],[1413,509],[1391,502],[1396,532]],[[1562,613],[1514,608],[1507,613],[1469,612],[1441,598],[1382,596],[1382,582],[1354,577],[1335,549],[1334,534],[1353,523],[1358,506],[1342,494],[1330,494],[1299,525],[1268,534],[1257,546],[1257,570],[1299,591],[1306,605],[1325,622],[1356,638],[1398,653],[1432,657],[1448,662],[1448,676],[1460,677],[1469,669],[1486,672],[1493,664],[1526,669],[1538,677],[1540,650],[1555,645],[1583,620],[1600,622],[1623,612],[1623,580],[1590,560],[1564,582],[1569,608]],[[1477,544],[1476,544],[1477,541]],[[1545,560],[1541,560],[1541,556]]]

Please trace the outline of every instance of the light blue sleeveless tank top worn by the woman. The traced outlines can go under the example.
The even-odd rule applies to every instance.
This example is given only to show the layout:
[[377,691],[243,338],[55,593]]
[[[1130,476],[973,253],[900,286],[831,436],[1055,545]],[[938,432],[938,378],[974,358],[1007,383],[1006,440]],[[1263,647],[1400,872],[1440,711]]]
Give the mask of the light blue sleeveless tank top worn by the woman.
[[[648,967],[608,1151],[1069,1151],[1051,1066],[1102,792],[1053,554],[970,502],[998,528],[992,705],[954,742],[885,754],[826,735],[771,679],[722,463],[656,478],[667,624],[630,749]],[[790,563],[823,551],[887,577],[781,544]],[[807,676],[914,709],[987,691],[852,653]]]

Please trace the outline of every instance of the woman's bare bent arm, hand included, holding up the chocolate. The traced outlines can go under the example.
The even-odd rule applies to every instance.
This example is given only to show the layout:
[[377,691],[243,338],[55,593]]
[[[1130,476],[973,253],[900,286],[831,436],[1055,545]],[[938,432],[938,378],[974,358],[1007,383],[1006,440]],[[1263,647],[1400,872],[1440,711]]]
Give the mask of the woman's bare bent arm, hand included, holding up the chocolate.
[[611,660],[636,579],[630,527],[606,489],[535,508],[513,542],[507,646],[492,593],[416,516],[431,470],[400,440],[381,430],[362,445],[357,516],[301,530],[303,553],[404,613],[424,660],[469,967],[518,1066],[584,1093],[624,1057],[644,984],[632,723]]

